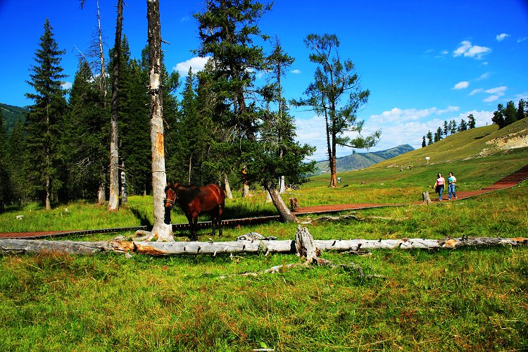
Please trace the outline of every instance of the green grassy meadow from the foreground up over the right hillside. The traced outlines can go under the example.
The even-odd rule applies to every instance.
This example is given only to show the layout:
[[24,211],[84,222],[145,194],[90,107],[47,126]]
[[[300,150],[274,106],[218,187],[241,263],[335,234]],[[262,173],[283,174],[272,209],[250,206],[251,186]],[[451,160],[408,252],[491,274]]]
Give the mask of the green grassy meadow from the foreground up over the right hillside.
[[[371,168],[341,173],[341,185],[348,187],[329,189],[328,176],[321,175],[284,194],[284,200],[295,196],[301,206],[404,204],[356,212],[386,219],[300,218],[312,220],[303,226],[315,239],[528,237],[527,182],[472,199],[417,204],[437,172],[453,171],[458,190],[465,191],[492,184],[527,165],[527,148],[491,150],[475,157],[491,148],[485,142],[512,133],[497,132],[494,126],[460,132]],[[429,165],[425,156],[431,158]],[[142,225],[153,221],[151,203],[148,196],[132,196],[118,213],[86,201],[50,212],[36,205],[12,208],[0,214],[0,232]],[[226,218],[275,214],[261,191],[249,199],[227,201],[226,210]],[[16,220],[16,215],[24,219]],[[172,221],[185,220],[175,210]],[[227,227],[222,240],[246,232],[293,239],[296,226],[268,222]],[[132,237],[127,232],[121,235]],[[207,240],[209,230],[199,235]],[[186,232],[175,236],[187,239]],[[0,256],[0,351],[528,349],[525,247],[378,250],[367,256],[325,252],[322,257],[338,264],[355,263],[367,276],[344,268],[238,275],[301,262],[294,255],[263,253],[175,258]]]

